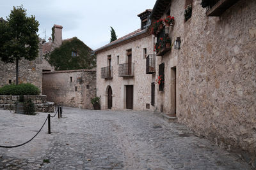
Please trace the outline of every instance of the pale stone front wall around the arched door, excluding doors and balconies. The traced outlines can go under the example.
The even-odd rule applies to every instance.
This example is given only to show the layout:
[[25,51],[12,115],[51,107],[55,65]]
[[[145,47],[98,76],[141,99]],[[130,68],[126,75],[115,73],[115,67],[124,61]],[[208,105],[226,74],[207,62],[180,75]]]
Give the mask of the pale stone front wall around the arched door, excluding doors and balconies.
[[[146,74],[146,59],[143,55],[143,48],[147,48],[147,54],[154,53],[153,37],[145,38],[126,43],[112,48],[106,52],[97,53],[97,96],[100,97],[102,109],[108,108],[108,87],[112,89],[113,110],[126,108],[125,85],[133,85],[133,109],[139,111],[154,111],[151,103],[151,83],[156,83],[156,74]],[[127,50],[132,50],[132,62],[134,62],[133,77],[118,77],[118,64],[127,63]],[[111,55],[111,66],[113,66],[113,78],[101,78],[101,68],[108,66],[108,55]],[[119,63],[117,56],[119,56]],[[149,104],[149,109],[146,108]]]

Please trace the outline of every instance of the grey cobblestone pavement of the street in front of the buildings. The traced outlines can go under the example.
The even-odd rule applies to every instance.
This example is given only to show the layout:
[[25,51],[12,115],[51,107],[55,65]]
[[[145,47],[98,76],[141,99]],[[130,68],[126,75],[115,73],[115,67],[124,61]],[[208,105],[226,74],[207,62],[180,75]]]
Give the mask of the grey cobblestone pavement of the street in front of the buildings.
[[[31,138],[47,114],[0,110],[0,145]],[[36,138],[0,148],[0,169],[250,169],[237,155],[156,113],[63,108]]]

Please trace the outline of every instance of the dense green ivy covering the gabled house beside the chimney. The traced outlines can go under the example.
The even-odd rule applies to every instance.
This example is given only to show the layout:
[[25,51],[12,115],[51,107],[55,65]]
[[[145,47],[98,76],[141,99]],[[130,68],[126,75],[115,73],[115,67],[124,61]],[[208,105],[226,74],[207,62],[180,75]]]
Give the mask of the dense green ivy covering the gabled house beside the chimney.
[[63,41],[62,45],[45,55],[51,66],[56,70],[92,69],[96,66],[96,57],[92,49],[74,37]]

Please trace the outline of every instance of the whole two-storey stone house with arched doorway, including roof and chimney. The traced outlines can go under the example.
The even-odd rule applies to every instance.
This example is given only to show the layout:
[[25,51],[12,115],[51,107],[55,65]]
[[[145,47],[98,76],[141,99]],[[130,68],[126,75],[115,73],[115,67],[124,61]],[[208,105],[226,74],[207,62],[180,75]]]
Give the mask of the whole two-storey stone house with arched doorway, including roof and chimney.
[[155,110],[151,103],[153,74],[146,74],[146,57],[153,54],[153,37],[148,32],[151,10],[140,15],[141,29],[95,50],[97,96],[102,109]]

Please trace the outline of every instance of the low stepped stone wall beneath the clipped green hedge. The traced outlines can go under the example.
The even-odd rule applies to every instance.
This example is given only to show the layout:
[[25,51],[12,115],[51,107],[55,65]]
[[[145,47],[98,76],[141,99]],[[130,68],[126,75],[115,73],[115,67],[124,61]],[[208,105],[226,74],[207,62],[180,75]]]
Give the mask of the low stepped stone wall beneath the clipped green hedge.
[[[36,112],[54,112],[54,103],[47,102],[46,95],[24,96],[24,99],[31,99],[33,101]],[[17,102],[19,102],[19,96],[0,96],[0,108],[4,110],[15,110]]]

